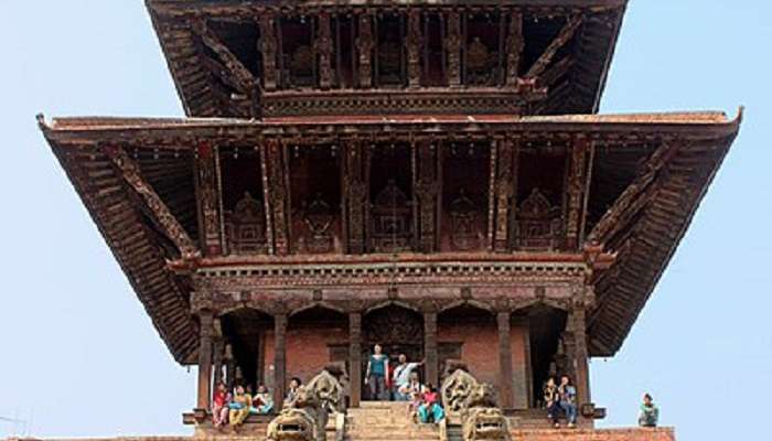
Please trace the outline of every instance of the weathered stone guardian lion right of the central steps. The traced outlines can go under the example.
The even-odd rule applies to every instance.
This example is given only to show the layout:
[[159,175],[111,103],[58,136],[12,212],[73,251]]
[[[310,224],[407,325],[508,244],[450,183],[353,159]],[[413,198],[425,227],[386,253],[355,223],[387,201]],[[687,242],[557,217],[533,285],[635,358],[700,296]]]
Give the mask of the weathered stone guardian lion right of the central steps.
[[464,441],[510,440],[510,424],[496,405],[493,386],[457,369],[442,383],[441,392],[448,415],[461,420]]

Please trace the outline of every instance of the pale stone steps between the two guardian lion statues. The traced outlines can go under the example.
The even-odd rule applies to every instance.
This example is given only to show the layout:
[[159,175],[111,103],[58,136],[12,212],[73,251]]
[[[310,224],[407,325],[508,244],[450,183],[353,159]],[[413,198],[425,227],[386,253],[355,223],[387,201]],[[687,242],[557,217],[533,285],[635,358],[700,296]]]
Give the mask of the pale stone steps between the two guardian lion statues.
[[349,441],[439,441],[435,424],[416,424],[407,412],[407,402],[364,401],[349,409],[346,434]]

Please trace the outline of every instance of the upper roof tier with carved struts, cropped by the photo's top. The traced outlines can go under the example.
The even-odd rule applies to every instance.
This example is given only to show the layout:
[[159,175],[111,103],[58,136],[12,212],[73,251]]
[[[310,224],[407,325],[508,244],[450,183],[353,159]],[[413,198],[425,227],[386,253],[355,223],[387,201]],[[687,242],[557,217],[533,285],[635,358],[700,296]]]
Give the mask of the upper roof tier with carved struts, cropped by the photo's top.
[[193,117],[588,114],[626,0],[147,0]]

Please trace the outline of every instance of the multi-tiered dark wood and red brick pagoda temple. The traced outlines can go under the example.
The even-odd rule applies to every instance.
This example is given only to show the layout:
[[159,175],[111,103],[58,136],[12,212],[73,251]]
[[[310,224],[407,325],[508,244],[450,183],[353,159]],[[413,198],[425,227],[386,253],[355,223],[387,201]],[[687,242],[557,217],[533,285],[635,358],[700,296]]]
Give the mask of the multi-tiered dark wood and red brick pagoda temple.
[[186,422],[214,383],[280,408],[330,365],[364,409],[376,343],[432,385],[465,366],[514,426],[545,422],[556,374],[580,427],[602,418],[588,362],[620,349],[741,119],[598,115],[626,0],[146,3],[185,118],[39,122],[197,366]]

